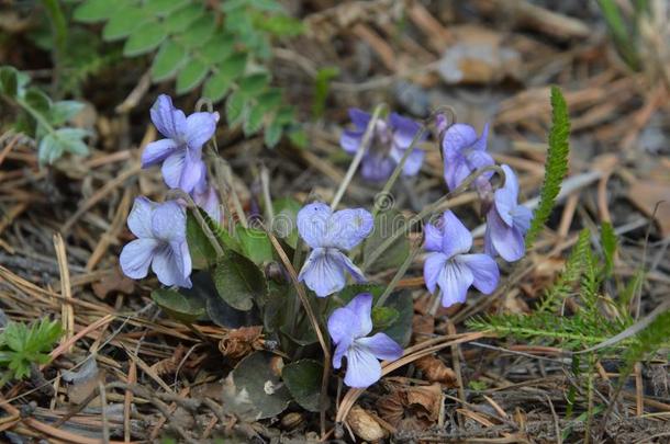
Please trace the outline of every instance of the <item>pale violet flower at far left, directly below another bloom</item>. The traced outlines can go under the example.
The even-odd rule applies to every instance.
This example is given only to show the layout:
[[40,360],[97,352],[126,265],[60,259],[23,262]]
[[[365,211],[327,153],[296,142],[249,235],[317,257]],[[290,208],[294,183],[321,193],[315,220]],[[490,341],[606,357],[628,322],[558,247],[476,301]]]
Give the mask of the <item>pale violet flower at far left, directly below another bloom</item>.
[[135,198],[127,225],[137,239],[121,251],[119,263],[126,276],[146,277],[149,265],[164,285],[191,287],[191,254],[186,242],[186,210],[176,201],[158,204]]

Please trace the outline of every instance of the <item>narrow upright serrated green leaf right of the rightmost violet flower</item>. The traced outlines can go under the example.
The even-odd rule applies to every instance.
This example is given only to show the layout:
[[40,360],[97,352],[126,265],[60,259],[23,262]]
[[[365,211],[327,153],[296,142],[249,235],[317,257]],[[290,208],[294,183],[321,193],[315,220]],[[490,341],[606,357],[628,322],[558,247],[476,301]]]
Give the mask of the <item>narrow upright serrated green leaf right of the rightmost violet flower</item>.
[[534,212],[531,228],[526,234],[526,249],[551,215],[556,197],[560,192],[563,177],[568,172],[570,153],[570,116],[566,99],[558,87],[551,87],[551,129],[549,130],[549,150],[545,164],[545,181],[539,194],[539,204]]

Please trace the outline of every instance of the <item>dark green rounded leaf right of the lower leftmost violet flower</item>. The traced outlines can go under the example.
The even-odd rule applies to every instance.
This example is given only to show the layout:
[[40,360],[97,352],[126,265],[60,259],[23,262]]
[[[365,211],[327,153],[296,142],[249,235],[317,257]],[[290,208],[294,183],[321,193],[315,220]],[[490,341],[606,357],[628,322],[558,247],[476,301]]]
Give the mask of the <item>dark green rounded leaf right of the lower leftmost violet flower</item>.
[[250,310],[254,300],[263,305],[267,298],[268,284],[260,269],[235,251],[219,259],[213,277],[219,296],[238,310]]

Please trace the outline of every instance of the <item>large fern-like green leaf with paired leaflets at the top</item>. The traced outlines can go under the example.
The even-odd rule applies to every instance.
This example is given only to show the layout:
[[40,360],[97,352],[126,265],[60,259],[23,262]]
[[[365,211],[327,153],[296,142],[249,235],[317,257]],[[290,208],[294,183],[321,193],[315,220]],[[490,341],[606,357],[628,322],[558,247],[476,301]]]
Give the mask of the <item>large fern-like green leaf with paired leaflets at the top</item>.
[[294,124],[266,66],[271,38],[297,35],[302,24],[278,1],[228,0],[216,10],[199,0],[83,0],[74,16],[105,22],[102,38],[125,41],[126,57],[155,53],[153,80],[175,78],[178,94],[202,86],[212,102],[227,98],[228,124],[242,125],[246,136],[264,128],[272,147]]

